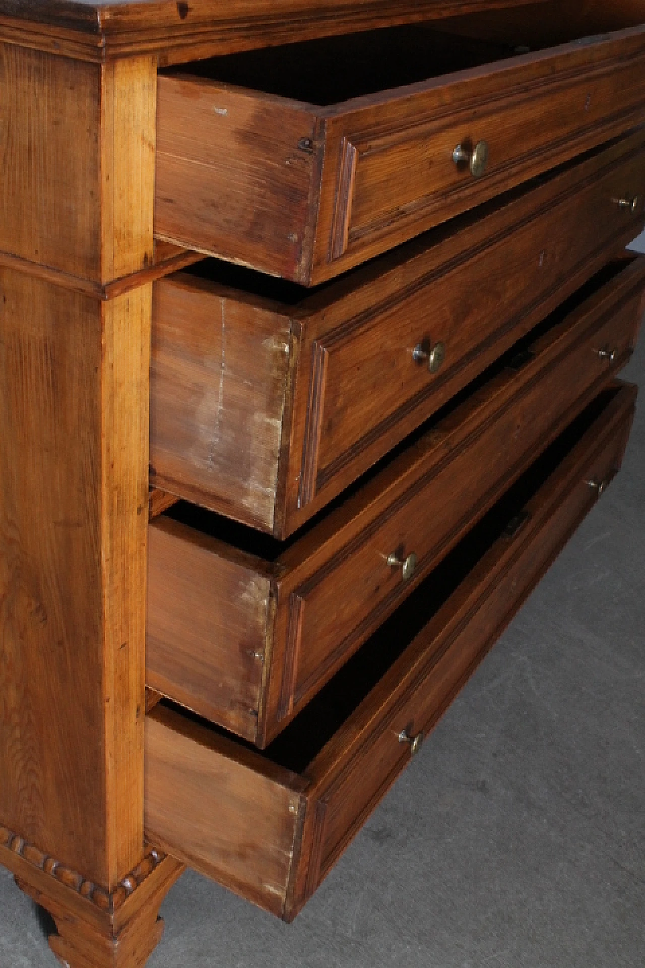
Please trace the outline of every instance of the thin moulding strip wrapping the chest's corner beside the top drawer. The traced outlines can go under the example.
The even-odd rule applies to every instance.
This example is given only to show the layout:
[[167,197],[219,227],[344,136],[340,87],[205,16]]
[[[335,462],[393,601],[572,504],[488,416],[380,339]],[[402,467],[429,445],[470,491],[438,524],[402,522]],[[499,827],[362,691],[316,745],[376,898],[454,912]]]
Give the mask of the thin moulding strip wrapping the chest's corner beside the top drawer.
[[[177,249],[179,250],[180,247],[177,246]],[[201,253],[195,252],[192,249],[178,251],[171,257],[163,258],[154,265],[139,269],[138,272],[133,272],[129,276],[122,276],[120,279],[115,279],[113,282],[106,283],[104,286],[101,283],[94,283],[89,279],[82,279],[80,276],[70,275],[70,273],[64,272],[62,269],[54,269],[49,265],[41,265],[39,262],[32,262],[31,259],[23,258],[22,256],[13,256],[8,252],[0,251],[0,267],[14,269],[15,272],[22,272],[36,279],[42,279],[45,283],[51,283],[53,286],[70,289],[73,292],[78,292],[80,295],[89,296],[91,299],[99,299],[101,302],[108,302],[110,299],[116,299],[118,296],[131,292],[132,289],[154,283],[164,276],[178,272],[180,269],[185,269],[202,258],[203,255]]]

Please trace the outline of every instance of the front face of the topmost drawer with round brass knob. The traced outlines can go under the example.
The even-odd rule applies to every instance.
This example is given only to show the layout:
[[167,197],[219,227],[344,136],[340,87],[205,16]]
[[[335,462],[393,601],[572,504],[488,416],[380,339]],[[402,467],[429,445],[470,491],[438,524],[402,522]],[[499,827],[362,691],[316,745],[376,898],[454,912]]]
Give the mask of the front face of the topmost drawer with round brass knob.
[[[369,257],[393,237],[410,237],[620,134],[626,120],[628,127],[642,123],[645,51],[637,45],[623,58],[620,44],[610,46],[613,56],[606,61],[582,56],[577,68],[575,55],[554,53],[536,64],[535,76],[518,84],[513,71],[503,70],[494,81],[484,76],[455,84],[448,89],[449,107],[433,92],[419,114],[411,116],[411,98],[398,116],[390,107],[378,117],[363,111],[338,120],[342,161],[331,259],[344,266]],[[462,99],[467,106],[460,106]],[[475,179],[467,164],[454,164],[453,154],[460,144],[472,149],[480,142],[487,145],[488,163],[484,177]],[[342,184],[351,186],[344,195]]]

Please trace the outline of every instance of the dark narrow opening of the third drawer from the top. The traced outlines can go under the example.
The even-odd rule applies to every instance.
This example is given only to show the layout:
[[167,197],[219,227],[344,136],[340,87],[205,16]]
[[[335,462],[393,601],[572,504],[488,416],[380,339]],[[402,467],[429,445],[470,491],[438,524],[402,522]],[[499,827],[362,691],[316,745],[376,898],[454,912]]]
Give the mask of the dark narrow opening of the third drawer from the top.
[[[486,387],[491,385],[493,381],[501,378],[509,369],[516,371],[524,362],[532,359],[544,344],[548,343],[551,338],[557,335],[558,327],[567,324],[565,320],[571,317],[572,313],[579,306],[595,293],[599,292],[602,287],[625,272],[635,258],[626,255],[604,266],[585,286],[579,288],[555,312],[544,319],[540,325],[531,330],[526,337],[517,341],[512,348],[487,367],[477,379],[469,383],[460,393],[456,394],[445,407],[439,409],[418,430],[404,439],[385,458],[359,477],[337,499],[331,501],[323,511],[312,517],[304,527],[295,531],[286,541],[279,541],[269,534],[261,533],[246,525],[239,524],[220,514],[208,511],[184,500],[179,501],[171,507],[166,512],[166,517],[189,528],[198,530],[202,534],[207,534],[212,538],[225,542],[227,545],[232,545],[239,551],[245,552],[254,558],[269,563],[279,562],[280,557],[284,556],[296,542],[301,540],[309,532],[314,531],[318,526],[320,527],[316,533],[320,533],[320,543],[322,543],[327,536],[327,521],[337,508],[354,495],[357,495],[381,470],[392,464],[403,451],[414,446],[428,432],[437,428],[457,408],[475,398],[476,394],[485,393]],[[211,261],[207,262],[207,269],[211,265],[213,265]],[[236,273],[246,273],[247,271],[236,270]],[[255,276],[256,274],[250,273],[250,275]],[[270,285],[276,285],[276,281],[271,282]],[[315,539],[313,539],[313,543],[316,543]]]

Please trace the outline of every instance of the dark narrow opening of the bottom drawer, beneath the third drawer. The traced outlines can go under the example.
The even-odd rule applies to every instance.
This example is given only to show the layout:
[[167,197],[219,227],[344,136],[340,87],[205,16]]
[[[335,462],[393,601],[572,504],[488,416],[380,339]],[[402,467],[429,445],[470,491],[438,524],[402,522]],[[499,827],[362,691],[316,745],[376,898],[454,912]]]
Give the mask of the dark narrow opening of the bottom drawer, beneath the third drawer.
[[[491,547],[498,541],[513,540],[528,525],[531,514],[530,508],[528,513],[525,512],[527,505],[619,393],[620,386],[617,384],[602,391],[276,740],[262,752],[249,743],[237,739],[236,742],[283,770],[307,773],[325,745],[392,669],[410,642],[446,604]],[[168,700],[163,700],[161,705],[180,709]],[[206,723],[191,712],[182,709],[182,715],[204,724],[214,736],[230,736],[225,730]]]

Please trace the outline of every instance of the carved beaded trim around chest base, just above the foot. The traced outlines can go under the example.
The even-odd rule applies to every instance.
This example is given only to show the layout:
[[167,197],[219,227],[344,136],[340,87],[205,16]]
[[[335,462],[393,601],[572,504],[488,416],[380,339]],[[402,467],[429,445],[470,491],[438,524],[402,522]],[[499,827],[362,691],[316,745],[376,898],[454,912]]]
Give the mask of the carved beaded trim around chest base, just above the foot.
[[81,897],[85,897],[95,907],[106,914],[114,914],[126,903],[133,892],[157,869],[166,855],[154,847],[148,847],[143,860],[134,867],[119,884],[115,891],[109,893],[97,887],[92,881],[86,880],[70,867],[56,861],[55,858],[44,854],[38,847],[27,843],[18,833],[10,831],[0,825],[0,849],[5,847],[23,861],[38,867],[45,874],[53,877],[60,884],[71,888]]

